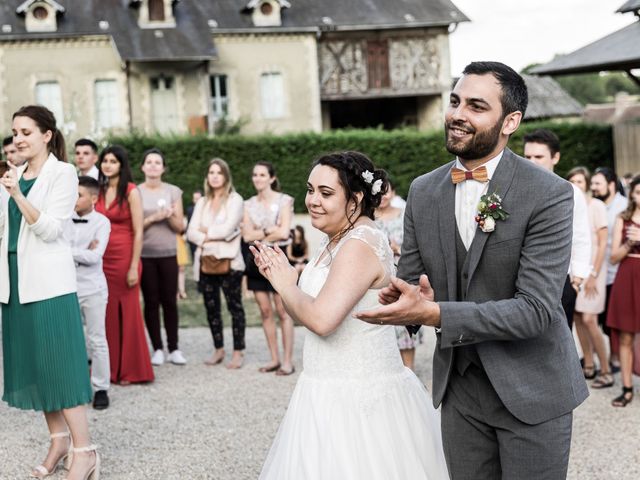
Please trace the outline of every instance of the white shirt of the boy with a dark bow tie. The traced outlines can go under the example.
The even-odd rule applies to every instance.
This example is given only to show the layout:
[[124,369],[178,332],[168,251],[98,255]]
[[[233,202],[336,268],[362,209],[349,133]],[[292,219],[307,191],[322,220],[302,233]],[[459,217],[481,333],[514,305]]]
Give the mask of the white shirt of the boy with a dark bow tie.
[[[75,213],[71,217],[65,236],[71,244],[73,260],[76,263],[78,297],[96,293],[103,293],[105,298],[107,297],[107,279],[102,271],[102,256],[107,248],[110,233],[109,219],[95,210],[83,217]],[[96,248],[89,249],[94,240],[98,241]]]

